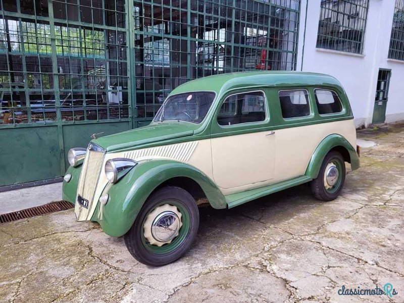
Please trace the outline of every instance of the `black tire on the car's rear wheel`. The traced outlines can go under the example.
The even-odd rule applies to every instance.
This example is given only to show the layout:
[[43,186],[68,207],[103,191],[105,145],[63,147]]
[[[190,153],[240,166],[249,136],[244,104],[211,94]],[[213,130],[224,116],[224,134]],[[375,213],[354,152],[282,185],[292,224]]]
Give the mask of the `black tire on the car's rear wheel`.
[[[326,189],[328,184],[324,182],[324,174],[326,167],[329,163],[336,165],[338,170],[338,180],[337,183],[329,189]],[[341,192],[345,183],[345,162],[343,157],[338,151],[330,151],[321,165],[319,175],[316,179],[311,182],[311,188],[313,195],[321,201],[331,201],[334,200]]]

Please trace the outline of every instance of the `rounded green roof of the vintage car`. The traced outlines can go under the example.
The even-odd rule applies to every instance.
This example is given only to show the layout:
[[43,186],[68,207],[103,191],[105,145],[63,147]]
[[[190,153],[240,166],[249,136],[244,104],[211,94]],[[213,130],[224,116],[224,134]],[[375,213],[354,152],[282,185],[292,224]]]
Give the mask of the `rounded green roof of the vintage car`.
[[295,71],[252,71],[225,73],[198,78],[176,87],[171,94],[189,91],[227,91],[259,86],[331,86],[341,88],[337,79],[330,75]]

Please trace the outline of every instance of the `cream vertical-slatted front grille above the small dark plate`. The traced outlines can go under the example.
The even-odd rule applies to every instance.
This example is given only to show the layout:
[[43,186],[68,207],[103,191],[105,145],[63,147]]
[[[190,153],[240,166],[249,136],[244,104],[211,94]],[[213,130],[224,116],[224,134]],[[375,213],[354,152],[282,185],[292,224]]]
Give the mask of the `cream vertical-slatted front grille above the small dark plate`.
[[87,199],[91,205],[99,173],[103,166],[105,151],[98,146],[94,148],[94,144],[90,145],[87,148],[87,154],[80,175],[78,194]]

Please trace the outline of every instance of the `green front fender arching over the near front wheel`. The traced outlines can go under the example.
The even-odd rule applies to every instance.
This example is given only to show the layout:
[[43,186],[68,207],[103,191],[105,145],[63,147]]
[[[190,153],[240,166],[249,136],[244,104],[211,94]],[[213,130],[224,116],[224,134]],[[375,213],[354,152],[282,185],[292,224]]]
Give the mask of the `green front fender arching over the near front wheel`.
[[98,204],[91,220],[97,221],[110,236],[122,236],[133,225],[147,197],[163,182],[174,177],[188,177],[199,184],[213,208],[226,208],[226,199],[215,183],[203,172],[185,163],[171,160],[148,160],[137,164],[104,193],[108,203]]

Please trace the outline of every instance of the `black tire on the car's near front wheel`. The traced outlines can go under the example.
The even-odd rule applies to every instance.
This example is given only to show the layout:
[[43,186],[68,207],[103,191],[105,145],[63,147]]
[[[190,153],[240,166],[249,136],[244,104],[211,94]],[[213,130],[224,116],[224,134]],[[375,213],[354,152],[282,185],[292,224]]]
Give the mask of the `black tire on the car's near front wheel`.
[[[160,253],[160,250],[164,250],[161,247],[167,249],[168,246],[165,245],[174,244],[176,238],[172,240],[172,243],[163,244],[161,247],[150,245],[144,237],[143,226],[147,215],[158,206],[164,205],[165,201],[170,206],[177,204],[177,210],[182,214],[180,211],[182,209],[183,213],[186,213],[186,217],[182,214],[181,222],[183,225],[179,229],[180,234],[176,237],[179,238],[181,235],[181,241],[179,241],[180,239],[177,240],[177,245],[172,251]],[[186,226],[184,220],[187,222]],[[198,227],[199,211],[195,199],[189,192],[180,187],[167,186],[157,190],[147,198],[132,227],[124,235],[124,240],[130,254],[137,261],[149,266],[162,266],[176,261],[185,254],[195,238]],[[185,229],[181,230],[182,228]],[[154,249],[154,252],[150,251],[150,247]]]

